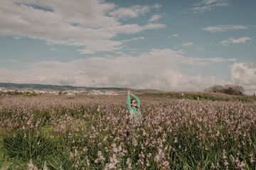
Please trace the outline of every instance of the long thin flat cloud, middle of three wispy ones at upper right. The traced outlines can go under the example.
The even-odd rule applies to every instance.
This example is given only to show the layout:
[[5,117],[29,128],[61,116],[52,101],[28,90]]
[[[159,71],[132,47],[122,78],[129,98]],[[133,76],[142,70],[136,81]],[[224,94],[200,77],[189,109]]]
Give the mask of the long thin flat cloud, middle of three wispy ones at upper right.
[[202,28],[202,30],[207,30],[211,33],[220,33],[220,32],[227,32],[233,30],[247,30],[250,26],[243,26],[243,25],[218,25],[218,26],[210,26],[206,28]]

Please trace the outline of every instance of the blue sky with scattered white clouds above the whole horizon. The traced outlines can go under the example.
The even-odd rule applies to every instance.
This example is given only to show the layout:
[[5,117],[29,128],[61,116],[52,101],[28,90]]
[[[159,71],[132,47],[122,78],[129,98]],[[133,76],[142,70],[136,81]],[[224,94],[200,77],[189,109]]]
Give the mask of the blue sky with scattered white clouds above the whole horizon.
[[254,0],[0,3],[0,82],[256,92]]

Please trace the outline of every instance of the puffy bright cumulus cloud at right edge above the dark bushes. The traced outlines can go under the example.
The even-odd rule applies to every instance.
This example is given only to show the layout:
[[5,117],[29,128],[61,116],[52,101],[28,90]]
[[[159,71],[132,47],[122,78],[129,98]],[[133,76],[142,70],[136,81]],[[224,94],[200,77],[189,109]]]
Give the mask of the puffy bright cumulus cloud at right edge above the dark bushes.
[[228,81],[243,86],[247,91],[256,92],[256,64],[235,62],[230,66]]

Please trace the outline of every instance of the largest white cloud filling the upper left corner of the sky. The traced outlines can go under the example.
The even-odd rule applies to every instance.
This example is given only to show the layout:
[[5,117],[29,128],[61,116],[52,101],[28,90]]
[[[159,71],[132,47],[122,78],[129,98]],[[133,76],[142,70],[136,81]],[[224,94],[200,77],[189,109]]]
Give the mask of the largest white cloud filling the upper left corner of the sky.
[[[120,17],[138,17],[159,5],[119,8],[100,0],[0,0],[0,3],[0,35],[46,40],[48,45],[74,45],[85,54],[122,48],[122,41],[112,40],[119,33],[166,27],[159,23],[139,26],[118,21]],[[131,16],[125,11],[132,11]]]

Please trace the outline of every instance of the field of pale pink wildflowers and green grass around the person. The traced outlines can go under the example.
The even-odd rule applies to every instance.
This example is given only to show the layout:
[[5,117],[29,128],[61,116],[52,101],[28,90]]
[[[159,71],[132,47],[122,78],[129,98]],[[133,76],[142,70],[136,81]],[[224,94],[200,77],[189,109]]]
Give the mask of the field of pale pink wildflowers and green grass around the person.
[[0,96],[0,169],[255,169],[253,96],[136,95]]

